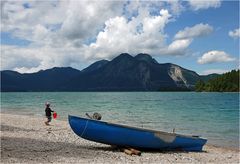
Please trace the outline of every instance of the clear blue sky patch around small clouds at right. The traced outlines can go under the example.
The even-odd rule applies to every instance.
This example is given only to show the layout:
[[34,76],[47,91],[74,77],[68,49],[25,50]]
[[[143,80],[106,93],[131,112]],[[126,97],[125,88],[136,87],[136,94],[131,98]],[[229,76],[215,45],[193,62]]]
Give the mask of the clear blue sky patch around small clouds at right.
[[[221,50],[231,54],[235,58],[239,58],[239,37],[233,39],[229,37],[229,31],[239,28],[239,2],[221,2],[218,8],[209,8],[205,10],[183,12],[176,21],[171,22],[166,27],[166,33],[171,37],[178,32],[178,30],[186,26],[193,26],[199,22],[207,23],[214,27],[214,31],[205,37],[196,39],[189,48],[193,53],[202,55],[210,50]],[[179,64],[188,69],[197,71],[198,73],[204,70],[231,70],[238,67],[238,60],[235,62],[221,62],[199,65],[195,57],[175,57],[158,58],[159,61],[172,62]]]

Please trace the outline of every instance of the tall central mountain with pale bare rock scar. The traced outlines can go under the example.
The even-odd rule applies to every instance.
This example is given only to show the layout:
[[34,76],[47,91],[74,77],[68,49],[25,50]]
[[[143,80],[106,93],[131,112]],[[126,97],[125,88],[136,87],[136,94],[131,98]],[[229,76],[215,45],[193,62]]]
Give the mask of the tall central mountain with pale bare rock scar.
[[69,82],[77,91],[157,91],[192,89],[200,76],[174,64],[159,64],[147,54],[120,54],[89,74]]

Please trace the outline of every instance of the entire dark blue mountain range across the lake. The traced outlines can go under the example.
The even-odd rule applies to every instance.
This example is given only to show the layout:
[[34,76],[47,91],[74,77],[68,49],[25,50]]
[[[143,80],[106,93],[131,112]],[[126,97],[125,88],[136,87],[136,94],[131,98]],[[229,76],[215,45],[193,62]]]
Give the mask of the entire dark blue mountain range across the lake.
[[1,71],[1,91],[175,91],[193,90],[201,80],[178,65],[159,64],[148,54],[122,53],[82,71],[52,68],[31,74]]

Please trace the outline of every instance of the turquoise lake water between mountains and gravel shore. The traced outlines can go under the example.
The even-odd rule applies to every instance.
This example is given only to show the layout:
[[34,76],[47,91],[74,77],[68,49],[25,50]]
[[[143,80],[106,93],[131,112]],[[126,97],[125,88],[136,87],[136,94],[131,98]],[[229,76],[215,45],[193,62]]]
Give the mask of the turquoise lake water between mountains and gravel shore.
[[200,135],[208,143],[239,146],[239,94],[195,92],[1,93],[1,111],[44,115],[51,102],[59,119],[99,112],[104,121]]

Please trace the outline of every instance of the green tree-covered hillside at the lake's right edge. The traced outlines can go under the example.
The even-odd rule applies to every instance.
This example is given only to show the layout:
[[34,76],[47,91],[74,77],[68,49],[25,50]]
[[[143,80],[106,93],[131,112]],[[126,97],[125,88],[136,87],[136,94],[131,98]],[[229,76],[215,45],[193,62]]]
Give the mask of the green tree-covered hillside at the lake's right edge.
[[207,82],[198,81],[195,85],[195,91],[239,92],[239,70],[232,70]]

